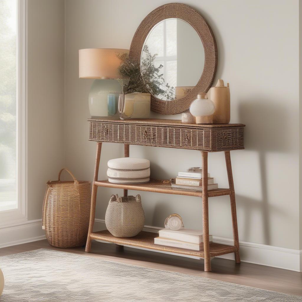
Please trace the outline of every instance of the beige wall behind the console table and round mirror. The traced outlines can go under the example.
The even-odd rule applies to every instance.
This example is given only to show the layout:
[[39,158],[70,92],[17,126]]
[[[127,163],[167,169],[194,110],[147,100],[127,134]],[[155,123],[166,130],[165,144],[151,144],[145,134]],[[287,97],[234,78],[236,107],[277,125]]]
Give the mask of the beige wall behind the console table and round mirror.
[[[65,2],[66,165],[79,179],[92,179],[95,143],[88,142],[86,122],[92,80],[78,79],[78,50],[129,48],[142,19],[166,2]],[[197,9],[212,27],[219,52],[216,80],[222,78],[230,82],[231,122],[246,124],[246,150],[232,152],[239,239],[299,249],[298,2],[182,2]],[[46,81],[43,76],[37,79]],[[60,106],[55,105],[57,109]],[[51,123],[51,118],[47,119]],[[54,124],[59,131],[59,125]],[[44,157],[58,164],[59,138],[55,146],[45,137],[42,139],[40,146],[45,149],[51,146],[49,153],[53,154],[53,157]],[[122,156],[122,150],[122,145],[103,144],[100,179],[106,178],[107,161]],[[188,166],[201,163],[197,151],[131,146],[130,155],[150,159],[152,176],[158,178],[170,178]],[[43,160],[40,162],[42,164]],[[53,167],[54,171],[56,169]],[[223,153],[210,154],[209,172],[221,187],[227,186]],[[44,179],[40,183],[43,185]],[[122,193],[121,190],[99,190],[97,218],[104,218],[110,194],[117,192]],[[200,198],[144,192],[141,195],[147,225],[162,226],[165,217],[179,213],[185,226],[201,228]],[[226,196],[210,199],[210,233],[232,237]]]

